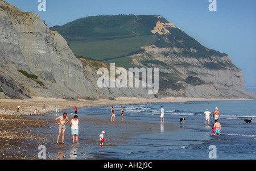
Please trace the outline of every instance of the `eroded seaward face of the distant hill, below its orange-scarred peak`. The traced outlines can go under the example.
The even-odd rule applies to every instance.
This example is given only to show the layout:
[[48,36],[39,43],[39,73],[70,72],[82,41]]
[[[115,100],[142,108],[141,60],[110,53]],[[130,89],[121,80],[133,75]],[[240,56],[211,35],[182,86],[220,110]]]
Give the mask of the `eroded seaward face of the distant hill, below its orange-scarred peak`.
[[151,32],[158,37],[155,44],[130,57],[134,65],[159,68],[160,95],[249,98],[242,70],[228,55],[204,47],[167,20],[158,20]]

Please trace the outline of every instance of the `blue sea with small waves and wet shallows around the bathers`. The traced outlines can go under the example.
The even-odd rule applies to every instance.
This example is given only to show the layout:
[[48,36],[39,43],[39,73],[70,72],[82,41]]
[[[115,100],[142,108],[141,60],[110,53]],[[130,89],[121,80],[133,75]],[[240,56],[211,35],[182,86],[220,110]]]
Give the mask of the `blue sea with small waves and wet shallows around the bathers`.
[[[164,108],[164,123],[160,123],[160,106]],[[60,148],[64,149],[65,159],[256,159],[255,100],[152,102],[114,107],[114,123],[110,122],[112,105],[78,107],[81,144],[73,145],[71,140],[65,140],[68,148]],[[123,122],[122,107],[125,107]],[[216,107],[220,111],[221,135],[212,135]],[[205,124],[207,109],[212,112],[209,125]],[[74,109],[65,112],[72,118]],[[48,115],[55,118],[55,114]],[[185,118],[184,123],[180,123],[180,118]],[[252,120],[246,123],[243,119]],[[106,132],[103,146],[98,140],[101,131]]]

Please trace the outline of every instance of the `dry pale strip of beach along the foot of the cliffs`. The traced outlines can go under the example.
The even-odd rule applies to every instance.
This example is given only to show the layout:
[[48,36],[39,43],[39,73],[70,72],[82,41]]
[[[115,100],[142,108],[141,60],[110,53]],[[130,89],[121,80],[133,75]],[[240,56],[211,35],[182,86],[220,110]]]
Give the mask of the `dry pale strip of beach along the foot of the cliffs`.
[[[28,115],[34,114],[35,109],[43,113],[42,107],[46,105],[45,112],[55,111],[55,105],[58,110],[63,111],[65,109],[71,109],[75,105],[77,107],[90,107],[90,106],[108,106],[108,105],[131,105],[138,103],[152,103],[152,102],[188,102],[188,101],[244,101],[253,100],[245,98],[190,98],[190,97],[167,97],[167,98],[126,98],[118,97],[115,100],[110,99],[98,99],[96,101],[88,101],[85,99],[79,99],[76,101],[68,101],[60,98],[44,98],[33,97],[31,99],[0,99],[0,115],[1,114],[18,114]],[[21,109],[17,111],[17,106]]]

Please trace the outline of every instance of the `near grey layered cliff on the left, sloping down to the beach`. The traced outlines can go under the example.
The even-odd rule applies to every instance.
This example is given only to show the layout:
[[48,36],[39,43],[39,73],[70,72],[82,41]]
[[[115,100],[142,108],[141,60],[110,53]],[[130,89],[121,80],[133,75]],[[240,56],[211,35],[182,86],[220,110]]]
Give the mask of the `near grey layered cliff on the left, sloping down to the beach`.
[[[0,98],[144,97],[147,89],[99,88],[100,76],[40,17],[0,1]],[[32,78],[31,78],[32,77]]]

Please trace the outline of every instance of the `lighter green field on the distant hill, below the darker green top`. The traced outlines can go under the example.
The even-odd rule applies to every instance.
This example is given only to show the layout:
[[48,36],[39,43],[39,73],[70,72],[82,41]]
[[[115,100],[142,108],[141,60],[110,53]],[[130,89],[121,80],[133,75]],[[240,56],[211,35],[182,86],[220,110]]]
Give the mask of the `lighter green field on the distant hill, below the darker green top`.
[[151,45],[154,41],[154,36],[136,36],[112,40],[72,41],[69,46],[77,56],[110,63],[110,60],[137,52],[141,47]]

